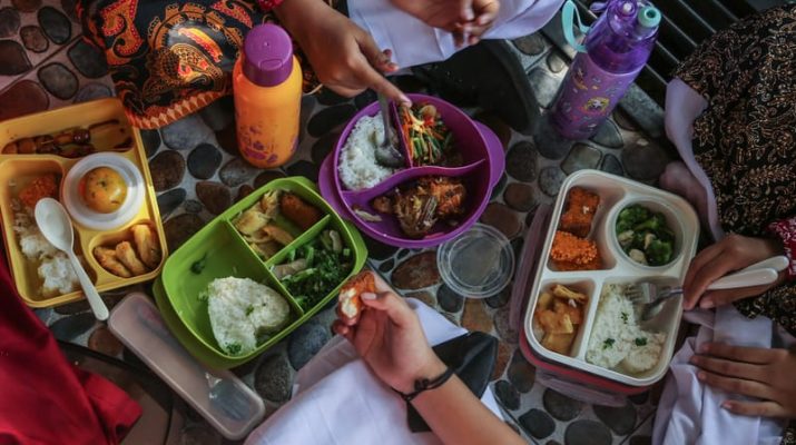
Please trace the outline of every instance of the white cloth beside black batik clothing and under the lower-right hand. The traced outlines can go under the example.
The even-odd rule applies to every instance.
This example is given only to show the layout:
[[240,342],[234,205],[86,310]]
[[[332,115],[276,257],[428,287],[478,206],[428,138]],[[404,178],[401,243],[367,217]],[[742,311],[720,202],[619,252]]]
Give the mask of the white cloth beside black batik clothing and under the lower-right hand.
[[[694,159],[691,123],[707,102],[682,80],[672,80],[666,95],[666,130],[686,166],[708,192],[708,221],[714,236],[724,234],[718,226],[713,188],[705,171]],[[658,405],[652,434],[653,444],[778,444],[784,424],[770,418],[740,416],[721,408],[727,398],[737,396],[714,389],[697,379],[697,367],[689,363],[704,343],[723,342],[736,346],[772,347],[773,322],[766,317],[749,319],[733,305],[713,310],[691,310],[685,319],[698,324],[696,337],[689,337],[669,365],[666,387]]]

